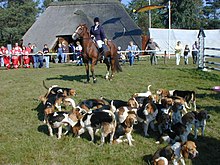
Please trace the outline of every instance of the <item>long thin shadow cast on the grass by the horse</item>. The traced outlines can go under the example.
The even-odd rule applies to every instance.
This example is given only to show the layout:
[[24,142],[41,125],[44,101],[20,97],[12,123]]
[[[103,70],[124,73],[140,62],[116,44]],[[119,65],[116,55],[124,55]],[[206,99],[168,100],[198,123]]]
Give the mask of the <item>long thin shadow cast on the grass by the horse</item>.
[[[104,78],[103,75],[96,75],[96,78]],[[46,80],[64,80],[64,81],[78,81],[78,82],[86,82],[86,75],[60,75],[58,77],[47,78]],[[90,76],[90,81],[92,81],[92,77]]]

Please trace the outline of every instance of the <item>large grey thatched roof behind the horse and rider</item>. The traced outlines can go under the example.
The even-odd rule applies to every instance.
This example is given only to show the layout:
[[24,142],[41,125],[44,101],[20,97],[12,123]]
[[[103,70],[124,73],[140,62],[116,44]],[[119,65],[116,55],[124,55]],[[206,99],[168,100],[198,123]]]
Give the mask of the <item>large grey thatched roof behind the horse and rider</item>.
[[118,0],[75,0],[53,2],[23,36],[24,44],[42,48],[56,44],[57,36],[70,36],[80,23],[88,27],[99,17],[108,39],[126,49],[133,40],[141,48],[141,30]]

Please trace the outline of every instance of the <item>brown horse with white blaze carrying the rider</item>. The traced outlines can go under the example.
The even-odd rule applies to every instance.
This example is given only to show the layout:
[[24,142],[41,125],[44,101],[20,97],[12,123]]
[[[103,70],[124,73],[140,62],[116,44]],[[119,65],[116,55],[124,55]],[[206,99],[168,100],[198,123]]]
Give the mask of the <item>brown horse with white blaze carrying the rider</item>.
[[[86,67],[87,82],[89,82],[90,80],[89,63],[91,63],[91,73],[92,73],[93,82],[96,83],[97,79],[95,77],[94,69],[95,69],[95,65],[97,64],[100,58],[100,55],[96,43],[90,37],[90,33],[86,24],[80,24],[76,28],[76,31],[73,33],[72,38],[74,40],[78,38],[82,38],[83,62]],[[119,65],[116,45],[112,41],[108,40],[107,47],[108,50],[105,51],[105,58],[104,58],[104,63],[107,66],[107,72],[105,78],[111,80],[115,71],[121,72],[122,68]],[[111,67],[111,75],[109,77],[110,67]]]

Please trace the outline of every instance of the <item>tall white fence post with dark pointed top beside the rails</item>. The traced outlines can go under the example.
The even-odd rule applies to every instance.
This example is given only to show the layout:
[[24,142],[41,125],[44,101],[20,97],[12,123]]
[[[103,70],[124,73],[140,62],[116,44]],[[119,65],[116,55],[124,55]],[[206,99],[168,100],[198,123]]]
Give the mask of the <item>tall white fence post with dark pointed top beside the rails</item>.
[[204,52],[205,52],[205,33],[203,29],[199,30],[198,39],[199,39],[199,53],[198,53],[198,69],[204,69]]

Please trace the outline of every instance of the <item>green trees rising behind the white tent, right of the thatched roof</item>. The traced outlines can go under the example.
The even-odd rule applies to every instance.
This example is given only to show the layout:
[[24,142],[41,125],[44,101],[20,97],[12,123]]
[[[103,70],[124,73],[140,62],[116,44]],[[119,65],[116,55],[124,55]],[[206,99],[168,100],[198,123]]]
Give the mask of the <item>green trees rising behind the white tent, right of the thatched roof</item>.
[[[171,25],[177,29],[217,29],[220,27],[219,8],[220,1],[210,0],[209,4],[203,4],[203,0],[171,0]],[[168,0],[151,1],[151,5],[164,5],[164,9],[151,11],[152,27],[168,28]],[[147,33],[149,27],[148,11],[143,13],[132,13],[133,9],[148,5],[148,1],[132,0],[127,6],[131,17]]]

